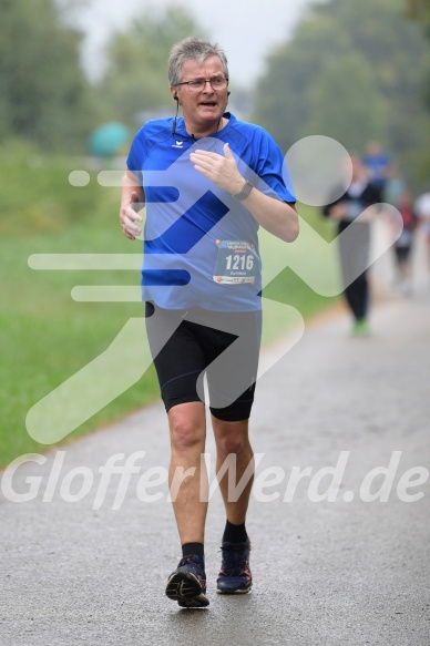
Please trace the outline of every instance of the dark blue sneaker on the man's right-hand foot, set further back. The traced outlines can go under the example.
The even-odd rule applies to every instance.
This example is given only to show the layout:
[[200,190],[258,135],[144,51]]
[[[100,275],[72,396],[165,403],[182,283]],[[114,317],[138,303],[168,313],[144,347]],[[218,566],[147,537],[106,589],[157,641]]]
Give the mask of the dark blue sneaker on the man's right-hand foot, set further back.
[[216,581],[219,594],[246,594],[253,585],[249,570],[249,540],[246,543],[227,543],[222,545],[223,562]]

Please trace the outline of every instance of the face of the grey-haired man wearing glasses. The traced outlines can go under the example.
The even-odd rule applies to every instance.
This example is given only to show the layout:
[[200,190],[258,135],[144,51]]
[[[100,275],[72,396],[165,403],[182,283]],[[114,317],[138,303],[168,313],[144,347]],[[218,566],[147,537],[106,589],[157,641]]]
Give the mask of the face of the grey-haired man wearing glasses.
[[[207,58],[202,65],[188,59],[182,65],[182,81],[197,81],[199,79],[225,78],[222,62],[218,57]],[[175,89],[171,92],[174,94]],[[180,85],[176,89],[182,106],[182,113],[188,126],[195,125],[204,129],[212,127],[223,116],[227,105],[228,88],[214,90],[211,83],[195,91],[188,85]]]

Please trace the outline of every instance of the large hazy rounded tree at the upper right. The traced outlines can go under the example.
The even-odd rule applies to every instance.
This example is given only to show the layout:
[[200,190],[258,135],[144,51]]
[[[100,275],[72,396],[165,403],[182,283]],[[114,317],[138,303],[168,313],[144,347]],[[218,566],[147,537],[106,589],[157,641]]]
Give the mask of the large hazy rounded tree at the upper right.
[[402,2],[315,4],[293,39],[272,52],[257,84],[254,119],[285,151],[305,134],[324,132],[360,150],[376,133],[398,155],[426,145],[426,41]]

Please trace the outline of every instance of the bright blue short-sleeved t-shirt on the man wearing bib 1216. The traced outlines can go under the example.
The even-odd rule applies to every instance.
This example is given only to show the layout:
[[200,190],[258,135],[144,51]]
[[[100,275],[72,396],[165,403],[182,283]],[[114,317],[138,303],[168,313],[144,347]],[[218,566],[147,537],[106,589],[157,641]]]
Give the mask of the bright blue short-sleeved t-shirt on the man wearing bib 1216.
[[173,119],[150,121],[130,150],[126,164],[142,185],[146,204],[142,296],[165,309],[260,309],[258,223],[194,168],[193,150],[223,155],[228,142],[243,177],[263,193],[296,201],[273,137],[233,114],[224,116],[227,125],[203,139],[190,136],[182,117],[175,134]]

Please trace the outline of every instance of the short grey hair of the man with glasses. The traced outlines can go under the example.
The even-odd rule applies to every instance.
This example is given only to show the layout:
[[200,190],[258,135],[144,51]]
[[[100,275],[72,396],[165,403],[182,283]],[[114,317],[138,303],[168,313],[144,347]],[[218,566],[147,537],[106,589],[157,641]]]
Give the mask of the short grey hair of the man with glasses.
[[188,37],[173,45],[171,55],[168,58],[168,82],[172,86],[177,85],[182,81],[182,65],[184,61],[192,59],[197,61],[199,65],[209,57],[218,57],[224,75],[228,79],[227,57],[217,43],[213,44],[207,40]]

